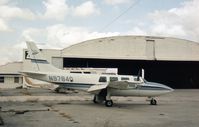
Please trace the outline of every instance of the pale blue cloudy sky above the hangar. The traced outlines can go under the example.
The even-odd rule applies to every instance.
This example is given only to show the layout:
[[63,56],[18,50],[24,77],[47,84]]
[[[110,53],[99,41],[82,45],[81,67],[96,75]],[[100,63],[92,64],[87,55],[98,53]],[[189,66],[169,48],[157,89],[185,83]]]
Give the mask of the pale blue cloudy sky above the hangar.
[[199,0],[0,0],[0,65],[20,61],[26,40],[62,49],[116,35],[199,42]]

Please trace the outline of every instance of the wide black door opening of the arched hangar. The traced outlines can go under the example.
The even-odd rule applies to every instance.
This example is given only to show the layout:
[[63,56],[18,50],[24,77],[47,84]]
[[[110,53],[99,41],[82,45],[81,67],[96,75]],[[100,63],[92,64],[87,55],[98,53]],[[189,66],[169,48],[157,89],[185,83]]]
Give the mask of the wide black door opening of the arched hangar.
[[137,75],[143,68],[148,81],[178,89],[199,88],[199,62],[64,58],[63,66],[118,68],[125,75]]

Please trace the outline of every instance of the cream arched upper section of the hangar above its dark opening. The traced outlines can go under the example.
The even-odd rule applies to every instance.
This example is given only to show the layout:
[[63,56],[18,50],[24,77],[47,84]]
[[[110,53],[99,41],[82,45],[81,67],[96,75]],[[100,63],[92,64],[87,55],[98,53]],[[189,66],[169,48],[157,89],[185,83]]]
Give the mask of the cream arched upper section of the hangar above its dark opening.
[[199,43],[152,36],[114,36],[88,40],[61,51],[62,57],[199,61]]

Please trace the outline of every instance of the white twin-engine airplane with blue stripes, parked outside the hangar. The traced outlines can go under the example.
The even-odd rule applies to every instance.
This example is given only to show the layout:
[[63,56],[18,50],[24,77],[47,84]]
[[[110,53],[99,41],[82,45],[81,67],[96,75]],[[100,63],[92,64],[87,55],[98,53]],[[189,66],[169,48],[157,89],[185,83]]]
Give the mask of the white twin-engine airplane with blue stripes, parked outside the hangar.
[[35,43],[27,42],[29,59],[35,68],[33,71],[24,70],[25,76],[58,84],[65,88],[84,90],[94,94],[93,102],[105,102],[107,107],[112,107],[111,96],[141,96],[148,97],[151,105],[156,105],[154,99],[173,89],[153,82],[147,82],[143,76],[106,75],[106,74],[79,74],[69,73],[58,69],[43,57]]

